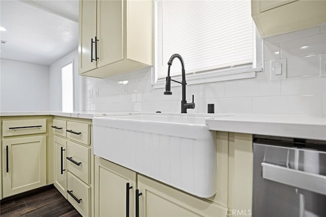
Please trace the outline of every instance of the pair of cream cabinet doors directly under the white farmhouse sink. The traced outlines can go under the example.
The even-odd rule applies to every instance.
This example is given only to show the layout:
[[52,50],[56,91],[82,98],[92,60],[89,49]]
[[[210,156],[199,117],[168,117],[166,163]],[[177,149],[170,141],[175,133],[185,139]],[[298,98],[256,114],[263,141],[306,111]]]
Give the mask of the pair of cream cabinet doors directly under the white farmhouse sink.
[[95,156],[95,216],[226,216],[226,211]]

